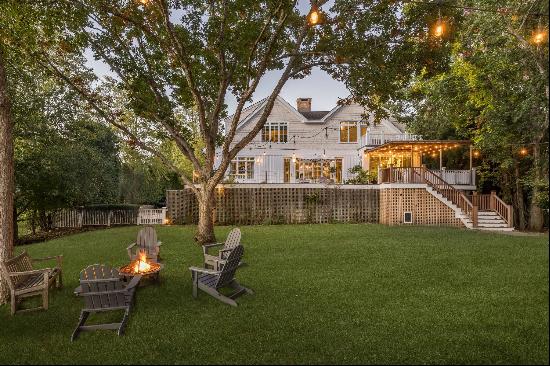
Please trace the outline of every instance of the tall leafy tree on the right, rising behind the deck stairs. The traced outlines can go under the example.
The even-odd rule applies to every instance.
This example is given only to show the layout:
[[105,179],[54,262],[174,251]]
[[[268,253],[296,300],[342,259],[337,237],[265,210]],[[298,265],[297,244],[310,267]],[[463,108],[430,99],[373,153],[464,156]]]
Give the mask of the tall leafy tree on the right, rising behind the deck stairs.
[[481,178],[514,203],[516,227],[540,230],[548,202],[548,2],[453,6],[462,16],[442,43],[446,68],[407,79],[405,120],[427,137],[472,139]]

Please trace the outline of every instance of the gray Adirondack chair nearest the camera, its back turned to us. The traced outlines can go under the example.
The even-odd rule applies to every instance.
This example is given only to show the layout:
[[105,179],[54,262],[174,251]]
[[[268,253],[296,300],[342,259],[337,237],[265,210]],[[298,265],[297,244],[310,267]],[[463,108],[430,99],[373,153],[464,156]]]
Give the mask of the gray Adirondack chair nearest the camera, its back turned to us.
[[[80,320],[71,341],[82,331],[109,329],[116,330],[118,335],[124,333],[140,279],[141,276],[135,276],[126,283],[119,277],[116,268],[103,264],[94,264],[82,270],[80,286],[75,289],[75,294],[84,298],[84,309],[80,312]],[[92,313],[121,310],[124,311],[124,317],[120,323],[84,325]]]

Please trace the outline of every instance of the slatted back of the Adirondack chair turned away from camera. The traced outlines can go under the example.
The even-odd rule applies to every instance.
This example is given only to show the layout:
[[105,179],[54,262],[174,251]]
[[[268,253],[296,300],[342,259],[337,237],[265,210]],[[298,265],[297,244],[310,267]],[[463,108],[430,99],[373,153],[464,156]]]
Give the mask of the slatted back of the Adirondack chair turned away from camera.
[[[104,280],[104,281],[101,281]],[[122,290],[125,284],[120,280],[118,270],[104,264],[93,264],[80,272],[82,293]],[[111,308],[126,305],[124,293],[84,296],[88,309]]]

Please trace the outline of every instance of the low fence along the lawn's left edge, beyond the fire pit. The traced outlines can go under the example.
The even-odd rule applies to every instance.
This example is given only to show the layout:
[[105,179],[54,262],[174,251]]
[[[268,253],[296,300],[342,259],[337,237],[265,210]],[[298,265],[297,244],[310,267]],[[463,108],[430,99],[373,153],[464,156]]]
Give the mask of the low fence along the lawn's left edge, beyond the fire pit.
[[165,219],[166,208],[115,210],[66,208],[57,210],[52,214],[53,227],[57,228],[112,225],[162,225],[165,223]]

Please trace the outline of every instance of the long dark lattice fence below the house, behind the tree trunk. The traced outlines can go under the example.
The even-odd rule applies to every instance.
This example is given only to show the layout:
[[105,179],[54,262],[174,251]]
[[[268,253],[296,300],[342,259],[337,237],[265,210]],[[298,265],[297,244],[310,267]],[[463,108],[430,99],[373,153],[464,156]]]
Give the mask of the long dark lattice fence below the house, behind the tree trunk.
[[[198,205],[190,189],[167,191],[166,206],[175,223],[198,221]],[[378,222],[378,217],[376,186],[234,184],[216,189],[218,224]]]

